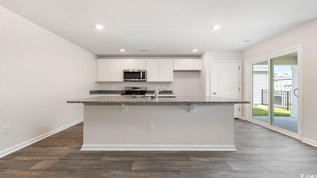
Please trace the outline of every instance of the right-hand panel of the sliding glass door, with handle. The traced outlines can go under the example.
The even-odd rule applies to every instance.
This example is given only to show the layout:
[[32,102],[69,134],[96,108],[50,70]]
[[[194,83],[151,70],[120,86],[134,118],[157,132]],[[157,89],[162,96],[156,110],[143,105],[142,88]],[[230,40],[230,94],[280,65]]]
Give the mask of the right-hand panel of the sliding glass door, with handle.
[[297,52],[270,60],[270,124],[297,133]]

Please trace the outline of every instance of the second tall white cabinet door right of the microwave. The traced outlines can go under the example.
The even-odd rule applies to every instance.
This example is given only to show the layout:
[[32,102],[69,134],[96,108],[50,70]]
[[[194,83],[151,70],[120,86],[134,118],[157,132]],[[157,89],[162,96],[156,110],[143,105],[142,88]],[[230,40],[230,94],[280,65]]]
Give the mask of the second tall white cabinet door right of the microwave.
[[159,59],[159,81],[173,82],[173,59]]

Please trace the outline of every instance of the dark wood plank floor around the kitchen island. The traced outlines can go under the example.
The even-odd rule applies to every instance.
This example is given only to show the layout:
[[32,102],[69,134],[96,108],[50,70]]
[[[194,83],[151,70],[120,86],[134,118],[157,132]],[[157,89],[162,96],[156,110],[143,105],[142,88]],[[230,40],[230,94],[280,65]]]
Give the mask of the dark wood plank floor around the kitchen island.
[[[208,139],[208,138],[206,138]],[[0,178],[301,178],[317,148],[235,120],[238,151],[80,151],[83,124],[0,159]],[[304,176],[305,177],[305,176]]]

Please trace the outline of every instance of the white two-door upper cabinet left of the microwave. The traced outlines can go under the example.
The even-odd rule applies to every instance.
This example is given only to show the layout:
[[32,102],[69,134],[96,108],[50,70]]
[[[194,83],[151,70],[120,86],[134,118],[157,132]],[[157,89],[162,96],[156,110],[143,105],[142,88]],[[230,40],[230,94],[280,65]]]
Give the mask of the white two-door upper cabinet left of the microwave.
[[97,59],[97,82],[123,82],[123,59]]

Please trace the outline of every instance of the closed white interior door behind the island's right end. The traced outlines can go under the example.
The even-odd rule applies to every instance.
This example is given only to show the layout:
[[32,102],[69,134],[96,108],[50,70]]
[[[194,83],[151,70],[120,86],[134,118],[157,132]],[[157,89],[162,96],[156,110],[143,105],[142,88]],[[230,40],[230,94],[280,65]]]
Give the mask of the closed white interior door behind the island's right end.
[[[239,70],[239,62],[211,62],[211,95],[240,99]],[[240,113],[240,104],[235,104],[234,118],[240,118]]]

